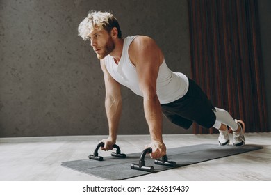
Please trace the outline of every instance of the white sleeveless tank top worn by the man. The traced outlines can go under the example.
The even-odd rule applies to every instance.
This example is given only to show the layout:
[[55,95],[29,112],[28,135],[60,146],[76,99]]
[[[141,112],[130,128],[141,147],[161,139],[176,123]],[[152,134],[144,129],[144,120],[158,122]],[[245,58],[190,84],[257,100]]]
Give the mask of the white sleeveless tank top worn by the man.
[[[128,49],[136,36],[124,39],[122,56],[119,63],[115,63],[112,56],[105,58],[106,69],[109,74],[120,84],[128,87],[137,95],[143,96],[138,84],[136,67],[131,63]],[[161,104],[174,102],[183,97],[188,91],[188,77],[180,72],[172,72],[165,63],[160,65],[156,83],[156,93]]]

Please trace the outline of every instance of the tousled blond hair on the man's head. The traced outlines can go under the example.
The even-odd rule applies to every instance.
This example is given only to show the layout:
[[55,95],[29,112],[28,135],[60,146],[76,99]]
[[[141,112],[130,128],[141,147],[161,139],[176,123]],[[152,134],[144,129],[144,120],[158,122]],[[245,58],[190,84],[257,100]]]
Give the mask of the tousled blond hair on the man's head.
[[81,36],[83,40],[88,40],[88,36],[93,29],[105,29],[108,31],[108,33],[110,33],[114,27],[117,28],[117,37],[122,38],[122,31],[120,30],[119,22],[117,22],[117,19],[112,13],[90,11],[88,13],[88,17],[85,17],[85,19],[79,24],[78,32],[79,36]]

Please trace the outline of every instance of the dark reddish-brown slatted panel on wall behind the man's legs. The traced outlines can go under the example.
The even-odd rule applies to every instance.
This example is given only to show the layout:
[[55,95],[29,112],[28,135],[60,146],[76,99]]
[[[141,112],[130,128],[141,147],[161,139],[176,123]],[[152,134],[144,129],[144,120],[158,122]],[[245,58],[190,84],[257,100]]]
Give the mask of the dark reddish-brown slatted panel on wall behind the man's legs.
[[[188,0],[192,79],[215,107],[267,131],[256,0]],[[194,125],[195,134],[217,132]]]

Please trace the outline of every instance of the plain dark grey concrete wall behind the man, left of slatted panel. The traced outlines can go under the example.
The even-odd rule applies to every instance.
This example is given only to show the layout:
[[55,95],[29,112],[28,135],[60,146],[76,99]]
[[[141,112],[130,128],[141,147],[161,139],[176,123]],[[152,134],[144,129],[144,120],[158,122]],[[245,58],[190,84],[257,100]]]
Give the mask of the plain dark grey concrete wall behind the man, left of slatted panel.
[[[190,76],[186,0],[1,0],[0,137],[108,134],[99,61],[77,36],[88,10],[111,10],[124,37],[151,36]],[[119,133],[148,134],[142,98],[123,88],[123,101]]]

